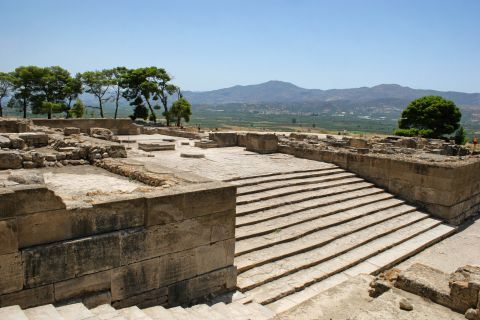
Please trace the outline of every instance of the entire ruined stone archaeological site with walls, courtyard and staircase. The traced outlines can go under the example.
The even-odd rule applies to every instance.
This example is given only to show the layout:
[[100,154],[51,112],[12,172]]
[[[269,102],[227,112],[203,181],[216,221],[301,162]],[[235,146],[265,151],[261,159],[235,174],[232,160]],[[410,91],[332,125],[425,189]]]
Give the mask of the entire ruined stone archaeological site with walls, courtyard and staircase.
[[480,320],[480,155],[0,119],[0,320]]

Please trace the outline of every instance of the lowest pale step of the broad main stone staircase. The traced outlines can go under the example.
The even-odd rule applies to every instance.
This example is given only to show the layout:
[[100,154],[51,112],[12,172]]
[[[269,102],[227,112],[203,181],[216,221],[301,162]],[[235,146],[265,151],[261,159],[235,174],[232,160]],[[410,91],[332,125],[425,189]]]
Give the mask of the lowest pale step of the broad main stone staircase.
[[[345,254],[335,257],[308,269],[303,269],[280,279],[258,286],[246,294],[261,304],[270,304],[285,296],[303,290],[305,287],[336,273],[342,272],[375,255],[397,246],[407,240],[412,240],[417,247],[429,245],[445,237],[451,232],[451,227],[438,225],[425,231],[422,223],[410,225],[394,233],[371,241]],[[414,246],[415,247],[415,246]],[[411,248],[414,249],[414,248]],[[414,254],[415,249],[410,253]]]

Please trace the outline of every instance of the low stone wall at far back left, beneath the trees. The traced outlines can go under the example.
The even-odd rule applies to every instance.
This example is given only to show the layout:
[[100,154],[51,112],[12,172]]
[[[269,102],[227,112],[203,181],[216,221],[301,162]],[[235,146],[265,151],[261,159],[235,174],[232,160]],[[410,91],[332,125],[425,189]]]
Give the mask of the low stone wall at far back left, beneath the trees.
[[140,133],[140,126],[130,119],[32,119],[33,124],[50,128],[76,127],[89,134],[90,128],[106,128],[115,134],[133,135]]

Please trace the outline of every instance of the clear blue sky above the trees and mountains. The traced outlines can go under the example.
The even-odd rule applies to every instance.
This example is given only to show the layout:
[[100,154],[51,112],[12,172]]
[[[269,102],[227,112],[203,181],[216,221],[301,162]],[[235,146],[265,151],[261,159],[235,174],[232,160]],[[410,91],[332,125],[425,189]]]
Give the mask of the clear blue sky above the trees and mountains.
[[480,92],[479,0],[0,0],[0,30],[0,71],[155,65],[185,90]]

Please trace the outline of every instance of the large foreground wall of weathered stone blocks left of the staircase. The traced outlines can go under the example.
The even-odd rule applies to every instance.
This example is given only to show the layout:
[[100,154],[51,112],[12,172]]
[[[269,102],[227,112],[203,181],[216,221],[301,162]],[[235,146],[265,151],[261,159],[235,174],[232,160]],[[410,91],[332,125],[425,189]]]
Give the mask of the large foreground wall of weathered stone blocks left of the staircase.
[[66,208],[0,189],[0,306],[175,306],[234,288],[234,186],[211,182]]

